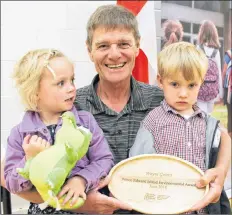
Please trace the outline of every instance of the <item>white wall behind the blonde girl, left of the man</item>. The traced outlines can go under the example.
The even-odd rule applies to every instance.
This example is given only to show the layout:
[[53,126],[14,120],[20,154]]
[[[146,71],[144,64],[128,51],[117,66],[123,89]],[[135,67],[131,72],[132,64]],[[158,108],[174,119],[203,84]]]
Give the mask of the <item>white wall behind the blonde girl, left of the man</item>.
[[[115,1],[1,1],[2,152],[10,129],[23,116],[23,106],[10,78],[16,60],[30,49],[56,48],[75,62],[76,86],[89,84],[95,70],[85,47],[85,26],[99,5],[109,3]],[[27,204],[12,195],[14,211]]]

